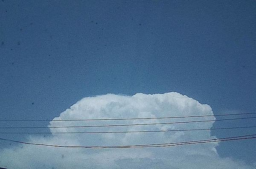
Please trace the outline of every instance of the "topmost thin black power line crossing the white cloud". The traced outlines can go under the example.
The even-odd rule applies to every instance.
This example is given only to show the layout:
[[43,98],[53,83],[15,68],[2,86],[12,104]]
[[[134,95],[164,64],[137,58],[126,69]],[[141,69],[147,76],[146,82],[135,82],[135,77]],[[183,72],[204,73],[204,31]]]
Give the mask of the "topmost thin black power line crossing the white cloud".
[[214,116],[228,116],[228,115],[250,115],[256,113],[236,113],[236,114],[222,114],[222,115],[192,115],[192,116],[176,116],[176,117],[146,117],[146,118],[99,118],[99,119],[16,119],[0,121],[110,121],[110,120],[143,120],[143,119],[168,119],[168,118],[197,118],[197,117],[214,117]]

